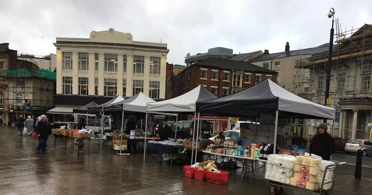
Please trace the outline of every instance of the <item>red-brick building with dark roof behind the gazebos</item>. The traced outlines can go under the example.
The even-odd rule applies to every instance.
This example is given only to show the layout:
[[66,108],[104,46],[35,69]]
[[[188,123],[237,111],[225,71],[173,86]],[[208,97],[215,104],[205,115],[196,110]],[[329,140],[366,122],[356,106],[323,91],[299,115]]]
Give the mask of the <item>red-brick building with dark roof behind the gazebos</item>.
[[208,58],[196,62],[171,79],[172,97],[203,85],[222,97],[248,88],[266,78],[276,81],[278,72],[244,61]]

